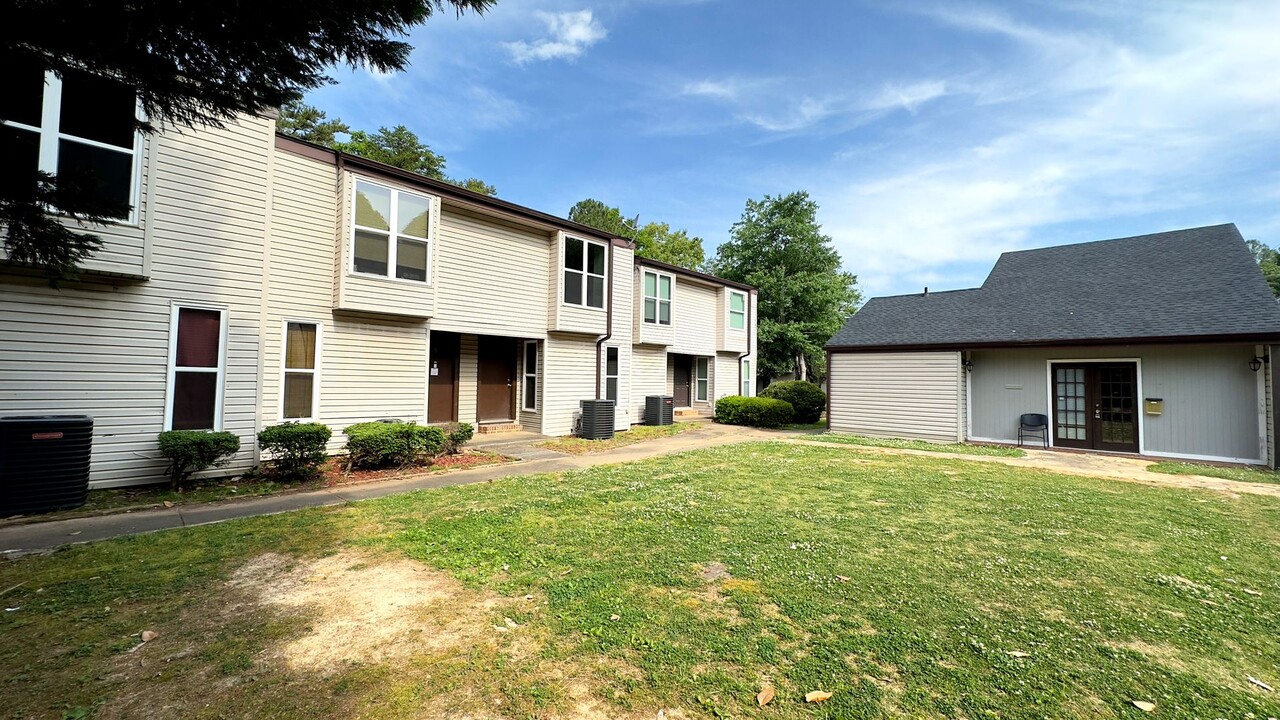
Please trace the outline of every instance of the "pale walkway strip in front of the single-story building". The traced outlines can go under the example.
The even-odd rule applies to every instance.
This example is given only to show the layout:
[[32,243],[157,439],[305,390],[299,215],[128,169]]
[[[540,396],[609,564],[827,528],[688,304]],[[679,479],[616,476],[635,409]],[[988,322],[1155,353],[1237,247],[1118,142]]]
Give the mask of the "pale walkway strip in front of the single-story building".
[[899,447],[874,447],[868,445],[849,445],[842,442],[823,442],[809,438],[787,438],[801,445],[817,445],[822,447],[838,447],[842,450],[858,450],[865,452],[878,452],[883,455],[922,455],[925,457],[947,457],[952,460],[972,460],[974,462],[996,462],[998,465],[1012,465],[1014,468],[1028,468],[1034,470],[1048,470],[1065,475],[1084,475],[1088,478],[1105,478],[1108,480],[1124,480],[1128,483],[1142,483],[1157,487],[1197,488],[1219,492],[1233,492],[1244,495],[1267,495],[1280,497],[1280,484],[1245,483],[1240,480],[1228,480],[1224,478],[1208,478],[1204,475],[1170,475],[1166,473],[1152,473],[1147,470],[1153,460],[1140,457],[1124,457],[1117,455],[1093,455],[1080,452],[1055,452],[1050,450],[1023,448],[1025,457],[1001,457],[992,455],[964,455],[959,452],[933,452],[929,450],[906,450]]

